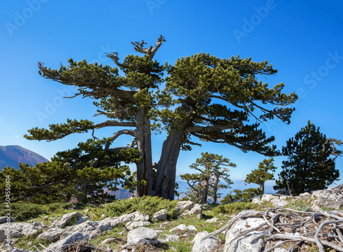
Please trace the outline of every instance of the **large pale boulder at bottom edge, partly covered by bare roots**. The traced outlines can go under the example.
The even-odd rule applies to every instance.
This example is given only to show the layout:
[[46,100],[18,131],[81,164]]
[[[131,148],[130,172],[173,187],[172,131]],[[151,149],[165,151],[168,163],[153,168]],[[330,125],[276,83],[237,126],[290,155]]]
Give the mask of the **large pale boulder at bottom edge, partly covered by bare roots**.
[[263,218],[246,218],[244,220],[237,220],[233,227],[231,227],[226,233],[226,242],[224,246],[224,252],[260,252],[263,247],[263,239],[258,238],[265,231],[255,231],[250,233],[248,236],[244,236],[234,240],[239,233],[246,231],[246,229],[252,229],[265,223]]

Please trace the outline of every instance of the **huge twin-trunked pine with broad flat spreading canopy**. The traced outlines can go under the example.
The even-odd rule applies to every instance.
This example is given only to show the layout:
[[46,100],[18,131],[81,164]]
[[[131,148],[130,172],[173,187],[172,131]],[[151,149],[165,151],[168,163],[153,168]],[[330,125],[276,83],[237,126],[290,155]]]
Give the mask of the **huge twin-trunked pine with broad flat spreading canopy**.
[[[86,60],[70,59],[69,65],[61,65],[60,69],[39,62],[41,76],[77,87],[73,97],[93,99],[95,115],[106,119],[99,124],[86,119],[69,120],[49,128],[33,128],[25,137],[55,141],[88,130],[93,130],[95,137],[99,128],[117,127],[110,138],[115,141],[120,135],[130,135],[132,144],[120,149],[133,148],[141,156],[140,161],[135,161],[137,180],[142,182],[137,185],[138,196],[169,199],[174,199],[180,150],[199,146],[198,140],[274,155],[274,137],[267,137],[259,125],[274,118],[289,123],[294,108],[287,106],[296,101],[294,93],[282,93],[282,82],[268,88],[259,80],[274,75],[276,69],[267,60],[255,62],[239,56],[220,59],[204,53],[179,58],[172,66],[160,65],[153,58],[163,42],[163,36],[154,47],[145,47],[144,41],[134,42],[134,49],[142,56],[128,55],[122,62],[117,52],[108,54],[123,75],[117,67],[89,64]],[[152,161],[152,130],[167,132],[156,165]],[[104,150],[118,151],[114,145],[111,142]]]

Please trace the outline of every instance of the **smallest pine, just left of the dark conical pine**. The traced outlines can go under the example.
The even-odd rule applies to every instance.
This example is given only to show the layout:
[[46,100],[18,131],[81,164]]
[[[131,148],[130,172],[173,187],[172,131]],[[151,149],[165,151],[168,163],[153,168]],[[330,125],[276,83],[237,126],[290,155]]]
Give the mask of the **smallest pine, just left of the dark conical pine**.
[[261,194],[264,194],[264,183],[265,181],[274,179],[274,174],[270,173],[269,171],[275,172],[276,167],[273,163],[274,159],[264,159],[261,163],[259,163],[259,168],[252,170],[250,174],[246,175],[246,179],[244,182],[250,184],[255,183],[259,185],[259,190]]

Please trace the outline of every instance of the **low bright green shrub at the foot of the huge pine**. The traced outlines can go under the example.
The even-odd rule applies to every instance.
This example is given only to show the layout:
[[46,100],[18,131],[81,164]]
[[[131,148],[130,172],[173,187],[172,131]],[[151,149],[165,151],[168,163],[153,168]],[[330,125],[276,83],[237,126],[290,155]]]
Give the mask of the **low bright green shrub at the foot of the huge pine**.
[[108,217],[115,217],[139,211],[141,214],[149,214],[149,217],[152,218],[156,211],[167,209],[170,218],[174,217],[176,203],[177,201],[169,201],[158,196],[143,196],[141,198],[123,199],[105,205],[102,213]]

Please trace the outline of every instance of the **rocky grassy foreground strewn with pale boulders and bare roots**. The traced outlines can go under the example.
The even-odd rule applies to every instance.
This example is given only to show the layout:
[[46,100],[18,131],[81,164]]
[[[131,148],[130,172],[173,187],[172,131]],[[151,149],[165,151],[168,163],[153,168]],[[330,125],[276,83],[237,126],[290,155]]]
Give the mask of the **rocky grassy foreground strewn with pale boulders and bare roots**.
[[153,216],[139,211],[118,217],[103,214],[99,220],[92,213],[96,209],[70,209],[62,216],[40,216],[27,222],[1,217],[0,249],[343,251],[343,185],[296,197],[265,194],[252,202],[254,209],[220,214],[206,205],[180,201],[177,218],[169,220],[166,209]]

